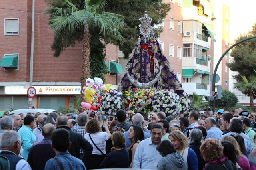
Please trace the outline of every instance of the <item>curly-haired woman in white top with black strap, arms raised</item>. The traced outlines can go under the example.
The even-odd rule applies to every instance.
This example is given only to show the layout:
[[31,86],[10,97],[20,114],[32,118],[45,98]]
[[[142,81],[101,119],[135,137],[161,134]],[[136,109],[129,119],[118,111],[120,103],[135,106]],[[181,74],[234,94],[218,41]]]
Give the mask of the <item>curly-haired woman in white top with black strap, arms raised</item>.
[[106,141],[111,134],[108,130],[108,121],[102,122],[105,132],[102,132],[102,126],[98,119],[90,119],[86,124],[86,134],[84,138],[92,144],[92,155],[89,158],[89,163],[86,165],[87,169],[99,169],[100,163],[106,156]]

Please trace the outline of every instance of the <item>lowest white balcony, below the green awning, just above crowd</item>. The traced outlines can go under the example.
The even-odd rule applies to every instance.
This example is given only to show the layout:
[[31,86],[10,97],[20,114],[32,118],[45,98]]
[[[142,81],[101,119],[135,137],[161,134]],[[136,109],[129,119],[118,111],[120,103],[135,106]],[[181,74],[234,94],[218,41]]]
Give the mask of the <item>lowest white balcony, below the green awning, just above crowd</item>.
[[182,87],[186,93],[193,95],[210,96],[210,85],[200,83],[182,83]]

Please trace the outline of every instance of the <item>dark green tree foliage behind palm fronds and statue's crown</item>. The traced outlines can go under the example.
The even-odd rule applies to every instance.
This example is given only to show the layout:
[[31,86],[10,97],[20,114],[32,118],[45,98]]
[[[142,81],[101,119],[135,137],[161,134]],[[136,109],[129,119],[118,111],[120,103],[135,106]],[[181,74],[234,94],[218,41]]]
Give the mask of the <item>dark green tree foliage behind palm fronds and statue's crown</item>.
[[[46,0],[46,2],[51,7],[64,7],[64,0]],[[84,8],[84,0],[70,0],[78,9],[82,10]],[[167,13],[170,11],[170,4],[162,3],[162,0],[108,0],[108,5],[105,8],[106,12],[113,12],[115,14],[120,14],[124,16],[124,21],[126,23],[125,29],[120,28],[120,33],[124,37],[124,42],[122,44],[118,43],[118,41],[108,35],[102,36],[106,43],[113,43],[115,45],[119,45],[119,49],[124,53],[124,57],[128,58],[130,53],[132,53],[132,49],[134,44],[137,41],[139,35],[139,27],[140,24],[139,18],[144,16],[145,10],[147,10],[148,15],[152,18],[152,24],[159,24],[165,18]],[[51,13],[50,13],[51,14]],[[160,35],[163,31],[161,27],[158,29],[154,29],[156,32],[156,37]],[[64,32],[65,34],[69,34],[69,32]],[[100,30],[92,29],[90,33],[96,33],[100,35]],[[74,33],[74,40],[72,40],[72,36],[66,37],[66,35],[58,35],[59,38],[54,40],[54,44],[52,45],[52,49],[55,51],[54,56],[59,56],[60,53],[69,45],[75,45],[76,41],[82,40],[82,33],[80,31]],[[55,35],[56,37],[56,35]],[[95,55],[102,55],[101,53]],[[91,70],[93,72],[94,70]]]

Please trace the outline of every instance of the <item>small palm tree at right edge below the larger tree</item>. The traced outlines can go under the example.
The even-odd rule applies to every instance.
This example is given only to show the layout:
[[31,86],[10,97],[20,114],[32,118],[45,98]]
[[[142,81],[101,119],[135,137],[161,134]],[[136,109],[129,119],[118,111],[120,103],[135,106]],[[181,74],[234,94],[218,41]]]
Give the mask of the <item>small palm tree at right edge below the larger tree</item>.
[[240,90],[243,94],[250,96],[250,109],[253,110],[253,99],[256,91],[256,76],[251,75],[250,82],[245,76],[241,76],[242,81],[235,83],[234,87]]

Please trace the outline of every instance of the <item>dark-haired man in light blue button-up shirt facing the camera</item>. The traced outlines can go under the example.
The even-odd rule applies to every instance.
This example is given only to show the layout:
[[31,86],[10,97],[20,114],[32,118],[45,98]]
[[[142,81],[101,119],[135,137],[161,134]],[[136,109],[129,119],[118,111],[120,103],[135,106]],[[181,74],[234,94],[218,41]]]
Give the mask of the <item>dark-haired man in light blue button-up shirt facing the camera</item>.
[[134,155],[132,168],[136,169],[157,169],[158,161],[162,158],[156,150],[156,146],[160,144],[163,128],[161,125],[153,125],[150,130],[151,138],[142,140]]

